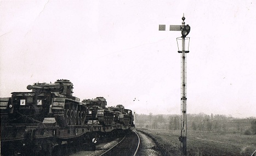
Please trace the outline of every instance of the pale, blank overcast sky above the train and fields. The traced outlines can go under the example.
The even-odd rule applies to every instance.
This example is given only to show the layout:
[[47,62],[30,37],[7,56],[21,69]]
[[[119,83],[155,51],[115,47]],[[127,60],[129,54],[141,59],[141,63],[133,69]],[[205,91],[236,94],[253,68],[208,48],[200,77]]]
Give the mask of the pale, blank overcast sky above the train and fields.
[[[256,2],[0,1],[0,97],[70,80],[73,95],[180,114],[180,32],[191,26],[187,113],[256,116]],[[135,100],[134,100],[135,99]]]

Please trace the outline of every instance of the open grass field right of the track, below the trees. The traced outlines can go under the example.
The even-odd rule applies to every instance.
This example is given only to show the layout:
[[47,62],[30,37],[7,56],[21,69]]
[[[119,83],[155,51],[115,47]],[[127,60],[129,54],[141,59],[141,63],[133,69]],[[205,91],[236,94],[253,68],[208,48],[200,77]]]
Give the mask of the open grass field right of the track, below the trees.
[[[154,137],[167,155],[180,155],[180,131],[139,129]],[[251,155],[256,135],[187,131],[187,155]]]

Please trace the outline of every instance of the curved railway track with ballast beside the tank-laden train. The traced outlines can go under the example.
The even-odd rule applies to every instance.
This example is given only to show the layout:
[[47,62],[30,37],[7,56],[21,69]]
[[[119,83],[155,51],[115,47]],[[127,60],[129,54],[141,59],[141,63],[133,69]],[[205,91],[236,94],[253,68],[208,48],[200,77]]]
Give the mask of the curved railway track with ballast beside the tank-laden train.
[[[70,151],[74,151],[72,149]],[[165,155],[162,148],[148,135],[141,131],[132,131],[122,137],[100,143],[96,151],[78,151],[68,154],[70,156],[82,155]]]

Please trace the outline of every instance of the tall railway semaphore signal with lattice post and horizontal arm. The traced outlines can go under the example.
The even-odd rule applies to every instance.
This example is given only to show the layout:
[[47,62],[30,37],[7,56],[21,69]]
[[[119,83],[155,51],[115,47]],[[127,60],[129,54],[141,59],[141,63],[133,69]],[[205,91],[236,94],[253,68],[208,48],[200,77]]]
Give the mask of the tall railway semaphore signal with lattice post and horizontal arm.
[[[181,37],[177,38],[178,41],[181,40],[182,50],[179,50],[178,44],[178,52],[181,53],[181,127],[180,127],[180,146],[181,146],[181,154],[186,155],[186,138],[187,138],[187,113],[186,113],[186,53],[189,53],[189,49],[185,50],[185,42],[186,40],[190,41],[190,38],[186,36],[190,32],[190,26],[185,25],[185,17],[181,18],[183,20],[182,25],[170,25],[169,31],[181,31]],[[159,25],[159,31],[166,31],[166,25]],[[189,44],[188,44],[189,45]],[[189,47],[189,46],[187,46]]]

